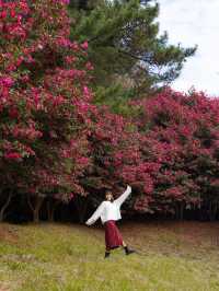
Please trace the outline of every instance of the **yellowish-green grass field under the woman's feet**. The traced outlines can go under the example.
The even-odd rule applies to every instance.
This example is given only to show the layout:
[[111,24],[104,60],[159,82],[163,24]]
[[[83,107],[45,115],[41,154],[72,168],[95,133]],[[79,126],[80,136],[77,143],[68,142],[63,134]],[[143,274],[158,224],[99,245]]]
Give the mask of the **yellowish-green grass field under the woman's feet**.
[[120,225],[140,254],[104,259],[102,228],[0,224],[0,291],[219,290],[219,224]]

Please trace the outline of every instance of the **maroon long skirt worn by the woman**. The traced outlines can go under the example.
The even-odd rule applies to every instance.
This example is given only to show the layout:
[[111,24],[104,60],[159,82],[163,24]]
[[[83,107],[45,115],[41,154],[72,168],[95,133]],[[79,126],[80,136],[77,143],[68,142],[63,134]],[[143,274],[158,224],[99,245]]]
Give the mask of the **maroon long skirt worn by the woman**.
[[108,220],[104,223],[104,226],[106,249],[116,248],[123,245],[123,236],[116,226],[115,221]]

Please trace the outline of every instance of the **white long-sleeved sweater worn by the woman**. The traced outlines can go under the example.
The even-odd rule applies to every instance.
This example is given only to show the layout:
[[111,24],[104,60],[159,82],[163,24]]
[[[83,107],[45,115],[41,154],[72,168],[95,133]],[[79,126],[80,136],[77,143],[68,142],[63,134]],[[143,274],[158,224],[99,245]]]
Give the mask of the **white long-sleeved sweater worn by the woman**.
[[101,218],[102,223],[108,220],[119,220],[122,219],[120,216],[120,206],[126,200],[126,198],[130,195],[131,188],[130,186],[127,187],[125,193],[120,195],[117,199],[113,202],[111,201],[103,201],[99,208],[95,210],[93,216],[85,222],[87,225],[93,224],[99,218]]

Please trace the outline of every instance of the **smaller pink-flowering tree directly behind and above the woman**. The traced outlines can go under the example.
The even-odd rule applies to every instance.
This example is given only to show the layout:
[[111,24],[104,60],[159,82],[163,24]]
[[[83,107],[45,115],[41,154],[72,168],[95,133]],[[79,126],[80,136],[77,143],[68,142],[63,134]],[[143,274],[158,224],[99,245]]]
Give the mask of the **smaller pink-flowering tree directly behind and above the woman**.
[[157,173],[153,162],[143,161],[140,150],[141,133],[131,118],[112,114],[107,107],[99,108],[95,124],[89,137],[92,163],[82,179],[89,188],[93,203],[97,206],[110,189],[118,196],[127,184],[132,187],[134,207],[136,196],[151,193],[152,174]]

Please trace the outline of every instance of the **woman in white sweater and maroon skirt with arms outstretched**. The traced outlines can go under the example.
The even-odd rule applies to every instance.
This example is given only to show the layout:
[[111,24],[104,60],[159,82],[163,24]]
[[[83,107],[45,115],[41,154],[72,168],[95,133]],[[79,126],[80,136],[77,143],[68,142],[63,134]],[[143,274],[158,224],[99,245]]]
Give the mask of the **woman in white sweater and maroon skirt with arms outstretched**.
[[128,248],[123,240],[119,230],[116,226],[115,221],[122,219],[120,206],[130,195],[131,188],[127,186],[127,189],[123,195],[114,200],[113,194],[107,191],[105,195],[105,201],[103,201],[93,216],[85,222],[87,225],[93,224],[99,218],[101,218],[102,223],[105,226],[105,258],[111,254],[111,249],[123,246],[126,255],[135,253],[134,249]]

